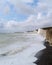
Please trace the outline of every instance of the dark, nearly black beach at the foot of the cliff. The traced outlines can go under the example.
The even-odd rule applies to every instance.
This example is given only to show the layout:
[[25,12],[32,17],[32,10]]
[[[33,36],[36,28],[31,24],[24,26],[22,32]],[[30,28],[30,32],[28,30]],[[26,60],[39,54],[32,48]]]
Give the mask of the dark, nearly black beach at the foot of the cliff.
[[52,46],[49,46],[48,42],[45,42],[44,45],[46,48],[35,55],[37,60],[34,63],[37,65],[52,65]]

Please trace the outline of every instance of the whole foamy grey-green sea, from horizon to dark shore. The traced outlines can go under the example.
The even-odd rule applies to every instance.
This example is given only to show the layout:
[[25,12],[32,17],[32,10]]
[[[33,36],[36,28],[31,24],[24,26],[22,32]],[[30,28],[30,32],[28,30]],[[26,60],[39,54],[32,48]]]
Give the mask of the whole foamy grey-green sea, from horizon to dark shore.
[[0,33],[0,65],[36,65],[35,54],[45,48],[37,32]]

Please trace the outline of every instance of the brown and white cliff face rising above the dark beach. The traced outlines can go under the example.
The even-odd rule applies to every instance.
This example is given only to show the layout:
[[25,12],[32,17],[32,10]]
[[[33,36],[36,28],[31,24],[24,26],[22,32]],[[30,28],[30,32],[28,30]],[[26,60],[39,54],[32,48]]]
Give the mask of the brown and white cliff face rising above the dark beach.
[[39,29],[38,33],[41,34],[52,46],[52,27]]

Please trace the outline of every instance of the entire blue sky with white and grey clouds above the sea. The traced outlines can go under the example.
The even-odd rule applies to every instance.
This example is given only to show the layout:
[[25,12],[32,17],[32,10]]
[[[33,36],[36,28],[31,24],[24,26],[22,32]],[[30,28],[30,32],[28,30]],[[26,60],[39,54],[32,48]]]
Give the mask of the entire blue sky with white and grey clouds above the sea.
[[46,26],[52,26],[52,0],[0,0],[0,32]]

